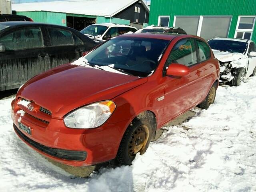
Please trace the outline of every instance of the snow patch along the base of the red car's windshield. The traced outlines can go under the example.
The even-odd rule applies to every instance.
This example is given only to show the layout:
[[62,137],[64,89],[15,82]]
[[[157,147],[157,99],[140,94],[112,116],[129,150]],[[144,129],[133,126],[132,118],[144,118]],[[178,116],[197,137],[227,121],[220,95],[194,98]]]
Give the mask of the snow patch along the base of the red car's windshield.
[[106,66],[98,66],[98,65],[94,65],[91,66],[90,63],[88,62],[88,60],[84,57],[80,57],[78,60],[74,61],[71,63],[72,65],[78,65],[78,66],[85,66],[88,68],[94,68],[94,69],[103,69],[104,71],[109,71],[109,72],[113,72],[113,73],[118,73],[118,74],[124,74],[124,75],[128,75],[125,73],[122,73],[118,70],[113,69],[114,64],[110,64],[110,65],[106,65]]

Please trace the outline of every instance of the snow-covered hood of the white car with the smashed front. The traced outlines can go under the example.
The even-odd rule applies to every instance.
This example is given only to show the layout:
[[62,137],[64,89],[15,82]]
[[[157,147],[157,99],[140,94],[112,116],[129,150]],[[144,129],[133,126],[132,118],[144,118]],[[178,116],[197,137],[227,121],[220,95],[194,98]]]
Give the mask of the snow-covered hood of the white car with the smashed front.
[[221,62],[229,62],[247,58],[247,56],[242,53],[223,52],[215,49],[212,49],[212,51],[214,53],[214,56]]

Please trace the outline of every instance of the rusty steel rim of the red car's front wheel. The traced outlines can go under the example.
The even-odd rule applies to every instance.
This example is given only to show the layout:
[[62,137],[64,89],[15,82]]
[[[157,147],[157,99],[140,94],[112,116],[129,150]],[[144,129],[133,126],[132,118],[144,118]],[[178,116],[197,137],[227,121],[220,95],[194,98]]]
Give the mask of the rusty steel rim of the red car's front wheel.
[[146,147],[146,143],[149,138],[149,128],[146,125],[141,125],[134,130],[131,139],[129,141],[128,146],[128,154],[130,158],[134,158],[134,156],[140,152],[142,153],[144,148]]

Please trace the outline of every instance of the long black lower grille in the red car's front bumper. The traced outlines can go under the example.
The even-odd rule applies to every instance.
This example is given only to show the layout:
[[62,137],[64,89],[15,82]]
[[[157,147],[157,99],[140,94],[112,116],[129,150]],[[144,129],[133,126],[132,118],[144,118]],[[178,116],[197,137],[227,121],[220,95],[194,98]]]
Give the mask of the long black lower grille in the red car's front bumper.
[[13,124],[15,132],[28,144],[32,147],[56,158],[64,159],[64,160],[71,160],[71,161],[84,161],[87,157],[86,151],[71,151],[71,150],[64,150],[64,149],[56,149],[44,146],[34,140],[28,138],[25,134],[23,134],[15,124]]

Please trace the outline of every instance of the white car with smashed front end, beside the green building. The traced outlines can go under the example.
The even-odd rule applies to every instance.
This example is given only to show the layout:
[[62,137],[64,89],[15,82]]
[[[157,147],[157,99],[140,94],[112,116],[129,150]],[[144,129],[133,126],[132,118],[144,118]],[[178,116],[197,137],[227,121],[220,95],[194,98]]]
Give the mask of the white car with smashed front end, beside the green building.
[[213,38],[208,41],[220,62],[220,80],[239,86],[256,73],[256,45],[251,40]]

